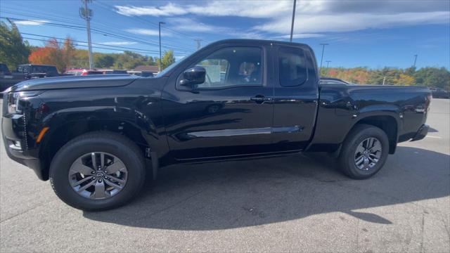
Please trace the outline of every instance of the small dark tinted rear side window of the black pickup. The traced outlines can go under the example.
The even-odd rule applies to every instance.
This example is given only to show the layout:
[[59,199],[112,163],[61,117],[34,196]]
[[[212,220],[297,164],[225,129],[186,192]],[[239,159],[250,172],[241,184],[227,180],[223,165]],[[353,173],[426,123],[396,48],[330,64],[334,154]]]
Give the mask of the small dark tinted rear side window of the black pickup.
[[307,80],[307,65],[301,48],[280,48],[278,67],[281,86],[299,86]]

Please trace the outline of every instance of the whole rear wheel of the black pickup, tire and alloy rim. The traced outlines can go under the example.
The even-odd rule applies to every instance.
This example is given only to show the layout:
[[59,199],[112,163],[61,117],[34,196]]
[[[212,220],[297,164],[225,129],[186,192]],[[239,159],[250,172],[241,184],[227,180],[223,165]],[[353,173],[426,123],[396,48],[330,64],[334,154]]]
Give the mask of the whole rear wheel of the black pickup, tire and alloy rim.
[[367,124],[354,127],[345,138],[340,167],[352,179],[368,179],[385,164],[389,139],[382,129]]

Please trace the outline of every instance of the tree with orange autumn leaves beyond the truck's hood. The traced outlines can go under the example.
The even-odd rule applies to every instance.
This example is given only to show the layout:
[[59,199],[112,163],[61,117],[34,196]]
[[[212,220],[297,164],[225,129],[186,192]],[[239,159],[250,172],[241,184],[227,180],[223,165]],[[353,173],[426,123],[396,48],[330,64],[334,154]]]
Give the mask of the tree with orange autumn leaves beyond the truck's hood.
[[[60,44],[63,44],[63,46],[60,46]],[[63,43],[53,38],[47,41],[46,46],[33,51],[28,60],[33,64],[55,65],[59,72],[65,72],[70,66],[75,50],[70,37],[67,37]]]

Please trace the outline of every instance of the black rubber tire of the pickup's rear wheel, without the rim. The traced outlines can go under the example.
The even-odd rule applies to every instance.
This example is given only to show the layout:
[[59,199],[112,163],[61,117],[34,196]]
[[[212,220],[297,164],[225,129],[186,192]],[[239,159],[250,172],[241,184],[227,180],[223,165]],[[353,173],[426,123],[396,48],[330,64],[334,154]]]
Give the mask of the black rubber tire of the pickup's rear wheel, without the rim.
[[[376,138],[381,145],[380,159],[368,170],[362,170],[356,167],[355,152],[359,144],[367,138]],[[383,167],[389,153],[389,139],[385,131],[367,124],[356,125],[342,143],[342,150],[339,156],[340,168],[352,179],[368,179],[375,175]]]

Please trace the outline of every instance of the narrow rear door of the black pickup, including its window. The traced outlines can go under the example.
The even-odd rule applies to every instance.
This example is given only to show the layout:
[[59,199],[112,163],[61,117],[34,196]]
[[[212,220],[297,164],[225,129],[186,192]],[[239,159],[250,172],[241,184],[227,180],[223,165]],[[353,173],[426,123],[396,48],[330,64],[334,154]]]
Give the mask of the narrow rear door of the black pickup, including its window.
[[307,46],[275,49],[274,143],[280,151],[306,148],[319,100],[316,61]]

